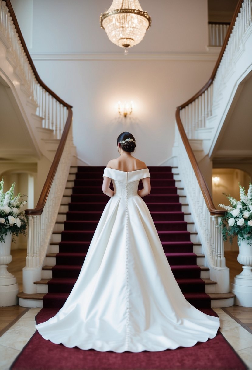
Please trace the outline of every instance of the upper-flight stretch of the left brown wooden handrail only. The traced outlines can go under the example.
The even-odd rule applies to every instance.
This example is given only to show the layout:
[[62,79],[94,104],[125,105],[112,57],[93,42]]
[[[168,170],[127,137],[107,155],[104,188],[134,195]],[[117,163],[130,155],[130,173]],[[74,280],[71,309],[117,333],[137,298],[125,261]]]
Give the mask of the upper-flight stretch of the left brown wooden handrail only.
[[34,75],[35,75],[35,77],[36,77],[36,80],[38,81],[38,83],[42,86],[42,88],[44,88],[44,90],[45,91],[47,91],[47,92],[49,92],[49,94],[50,95],[52,95],[58,102],[60,102],[62,105],[64,105],[64,107],[67,107],[67,108],[72,108],[72,105],[69,105],[68,103],[66,103],[64,100],[62,100],[60,97],[58,97],[58,95],[57,94],[55,94],[55,92],[53,92],[42,80],[41,80],[41,78],[40,78],[40,76],[38,75],[38,72],[37,72],[37,70],[36,70],[36,68],[35,68],[35,65],[34,65],[34,63],[33,63],[33,60],[32,60],[32,58],[31,58],[31,55],[30,55],[30,53],[29,53],[29,51],[28,51],[28,48],[27,48],[27,46],[26,46],[26,44],[25,44],[25,41],[24,41],[24,37],[23,37],[23,35],[22,35],[22,32],[21,32],[21,30],[20,30],[20,27],[18,26],[18,22],[17,22],[17,18],[16,18],[16,15],[15,15],[15,13],[14,13],[14,10],[13,10],[13,7],[12,7],[12,5],[11,5],[11,2],[10,2],[10,0],[5,0],[5,2],[6,2],[6,6],[7,6],[7,8],[8,8],[8,10],[9,10],[9,12],[10,12],[10,16],[11,16],[11,18],[12,18],[12,20],[13,20],[13,23],[14,23],[14,26],[15,26],[15,28],[16,28],[16,30],[17,30],[17,34],[18,34],[18,37],[19,37],[19,39],[20,39],[20,41],[21,41],[21,44],[22,44],[22,46],[23,46],[23,48],[24,48],[24,52],[25,52],[25,54],[26,54],[26,56],[27,56],[27,59],[28,59],[28,61],[29,61],[29,64],[30,64],[30,66],[31,66],[31,69],[33,70],[33,73],[34,73]]

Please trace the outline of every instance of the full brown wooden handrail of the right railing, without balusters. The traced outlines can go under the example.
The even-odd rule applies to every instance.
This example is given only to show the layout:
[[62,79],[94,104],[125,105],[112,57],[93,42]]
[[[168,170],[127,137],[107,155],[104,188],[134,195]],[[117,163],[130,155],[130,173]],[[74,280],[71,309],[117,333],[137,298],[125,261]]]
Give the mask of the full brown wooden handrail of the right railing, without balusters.
[[215,66],[214,66],[214,70],[212,71],[210,79],[200,89],[200,91],[197,92],[197,94],[195,94],[191,99],[187,100],[184,104],[180,105],[176,109],[176,122],[177,122],[178,130],[180,132],[182,141],[183,141],[184,146],[185,146],[185,150],[187,151],[187,154],[188,154],[188,157],[190,159],[191,165],[193,167],[194,173],[195,173],[195,175],[197,177],[197,180],[198,180],[198,183],[200,185],[200,188],[201,188],[202,194],[204,196],[205,202],[207,204],[208,210],[209,210],[209,212],[212,216],[223,216],[225,212],[222,211],[222,210],[216,209],[215,206],[214,206],[214,203],[212,201],[212,197],[211,197],[210,191],[208,189],[207,183],[205,182],[204,176],[202,175],[202,173],[200,171],[200,168],[198,166],[198,162],[195,158],[195,155],[193,153],[193,150],[191,148],[191,145],[190,145],[189,140],[187,138],[187,135],[185,133],[185,130],[184,130],[181,118],[180,118],[180,111],[181,111],[181,109],[187,107],[187,105],[191,104],[200,95],[202,95],[208,89],[208,87],[213,83],[215,75],[216,75],[218,67],[219,67],[219,64],[221,63],[221,59],[222,59],[222,56],[224,54],[225,48],[227,47],[229,37],[232,33],[232,29],[234,28],[236,18],[237,18],[238,13],[241,9],[242,3],[243,3],[243,0],[239,0],[238,3],[237,3],[232,21],[229,25],[227,34],[226,34],[225,39],[224,39],[224,43],[223,43],[222,48],[221,48],[221,52],[219,54],[219,57],[217,59],[217,62],[215,64]]

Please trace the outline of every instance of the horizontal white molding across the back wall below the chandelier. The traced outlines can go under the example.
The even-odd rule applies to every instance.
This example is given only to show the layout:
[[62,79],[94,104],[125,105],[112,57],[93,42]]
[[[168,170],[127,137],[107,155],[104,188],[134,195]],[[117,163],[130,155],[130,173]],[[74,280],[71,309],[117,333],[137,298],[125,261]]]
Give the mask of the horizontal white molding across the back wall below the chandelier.
[[135,61],[135,60],[184,60],[184,61],[215,61],[219,56],[218,50],[211,53],[143,53],[128,54],[123,53],[30,53],[33,60],[118,60],[118,61]]

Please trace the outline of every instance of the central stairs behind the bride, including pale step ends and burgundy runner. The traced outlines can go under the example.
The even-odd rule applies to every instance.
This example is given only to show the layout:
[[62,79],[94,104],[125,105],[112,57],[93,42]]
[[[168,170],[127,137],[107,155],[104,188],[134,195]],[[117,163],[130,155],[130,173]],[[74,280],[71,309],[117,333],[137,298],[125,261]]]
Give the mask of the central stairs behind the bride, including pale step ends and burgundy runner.
[[[37,307],[60,308],[64,305],[109,200],[102,193],[103,170],[104,167],[98,166],[71,168],[42,268],[42,279],[34,283],[37,293],[20,293],[20,305],[24,305],[25,299],[33,299]],[[176,168],[150,166],[149,170],[151,194],[144,201],[151,212],[173,274],[188,302],[197,308],[209,308],[211,298],[218,298],[213,293],[216,282],[209,279],[209,269],[204,266],[201,244],[191,221],[183,188],[176,179]]]

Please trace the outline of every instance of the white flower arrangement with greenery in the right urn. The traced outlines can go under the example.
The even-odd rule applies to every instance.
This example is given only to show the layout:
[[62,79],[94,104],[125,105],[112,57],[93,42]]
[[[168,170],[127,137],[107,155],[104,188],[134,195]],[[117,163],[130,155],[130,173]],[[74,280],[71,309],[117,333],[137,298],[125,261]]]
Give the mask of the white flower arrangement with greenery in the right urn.
[[[221,218],[219,226],[223,239],[232,243],[235,235],[238,235],[239,240],[248,240],[248,244],[252,244],[252,184],[249,183],[248,194],[245,189],[239,185],[240,200],[227,196],[231,206],[219,204],[219,207],[226,209],[225,215]],[[224,195],[226,195],[224,193]]]

